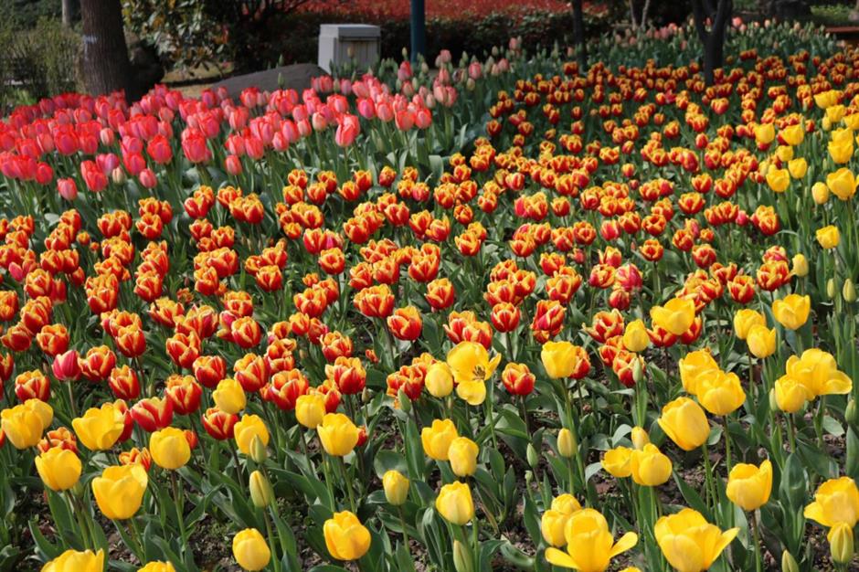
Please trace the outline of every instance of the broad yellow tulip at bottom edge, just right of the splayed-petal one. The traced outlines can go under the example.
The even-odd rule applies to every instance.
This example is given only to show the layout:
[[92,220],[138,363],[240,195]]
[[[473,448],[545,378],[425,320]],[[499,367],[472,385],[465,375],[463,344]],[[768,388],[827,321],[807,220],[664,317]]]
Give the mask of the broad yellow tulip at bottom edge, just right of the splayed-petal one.
[[653,527],[656,543],[677,572],[701,572],[711,567],[738,532],[739,528],[722,532],[691,508],[663,516]]

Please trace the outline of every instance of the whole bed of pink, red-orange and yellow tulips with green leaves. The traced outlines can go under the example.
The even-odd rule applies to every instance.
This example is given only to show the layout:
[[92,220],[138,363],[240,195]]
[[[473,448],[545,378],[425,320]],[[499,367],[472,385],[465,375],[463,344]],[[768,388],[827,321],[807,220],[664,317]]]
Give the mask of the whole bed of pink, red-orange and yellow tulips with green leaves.
[[859,54],[690,37],[14,111],[0,570],[855,567]]

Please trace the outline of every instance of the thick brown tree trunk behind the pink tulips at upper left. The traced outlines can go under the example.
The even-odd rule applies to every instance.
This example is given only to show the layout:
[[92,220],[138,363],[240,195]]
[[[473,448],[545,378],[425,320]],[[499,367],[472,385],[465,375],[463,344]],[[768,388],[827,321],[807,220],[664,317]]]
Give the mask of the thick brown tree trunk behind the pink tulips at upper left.
[[128,47],[122,33],[120,0],[80,0],[83,23],[83,56],[81,68],[87,91],[92,95],[125,90],[133,101]]

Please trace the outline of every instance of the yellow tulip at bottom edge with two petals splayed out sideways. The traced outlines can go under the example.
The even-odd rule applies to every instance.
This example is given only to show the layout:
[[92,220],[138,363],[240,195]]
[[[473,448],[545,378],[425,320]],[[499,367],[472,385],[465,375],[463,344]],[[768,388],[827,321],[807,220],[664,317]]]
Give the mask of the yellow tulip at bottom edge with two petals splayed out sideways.
[[603,572],[609,567],[611,558],[638,543],[635,533],[626,533],[615,543],[605,517],[592,508],[570,516],[565,537],[567,551],[548,548],[546,560],[555,566],[575,568],[579,572]]

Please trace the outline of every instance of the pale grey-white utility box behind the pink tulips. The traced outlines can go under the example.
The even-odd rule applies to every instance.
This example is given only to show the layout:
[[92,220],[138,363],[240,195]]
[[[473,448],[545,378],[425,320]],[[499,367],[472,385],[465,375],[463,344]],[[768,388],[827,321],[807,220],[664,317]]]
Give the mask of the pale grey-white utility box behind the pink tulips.
[[378,61],[381,36],[379,26],[323,24],[319,26],[319,67],[330,72],[332,62],[345,64],[351,49],[358,69],[367,69]]

